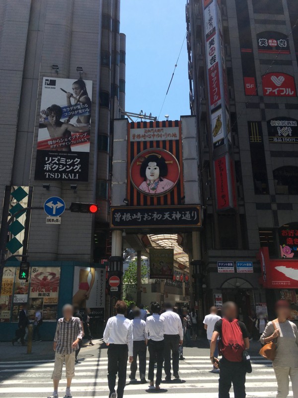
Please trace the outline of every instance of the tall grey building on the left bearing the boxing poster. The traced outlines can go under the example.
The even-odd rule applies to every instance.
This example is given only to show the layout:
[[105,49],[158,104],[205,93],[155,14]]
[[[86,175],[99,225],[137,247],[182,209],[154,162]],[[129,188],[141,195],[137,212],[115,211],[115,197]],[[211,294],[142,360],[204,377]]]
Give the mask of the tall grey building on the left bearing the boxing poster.
[[[103,319],[109,142],[125,108],[120,0],[0,0],[0,26],[3,333],[15,328],[23,302],[31,317],[39,306],[45,321],[56,320],[74,296]],[[45,204],[52,197],[65,202],[61,218],[63,203]],[[99,211],[71,212],[72,202]],[[29,208],[22,214],[21,206]],[[19,280],[26,259],[29,277]]]

